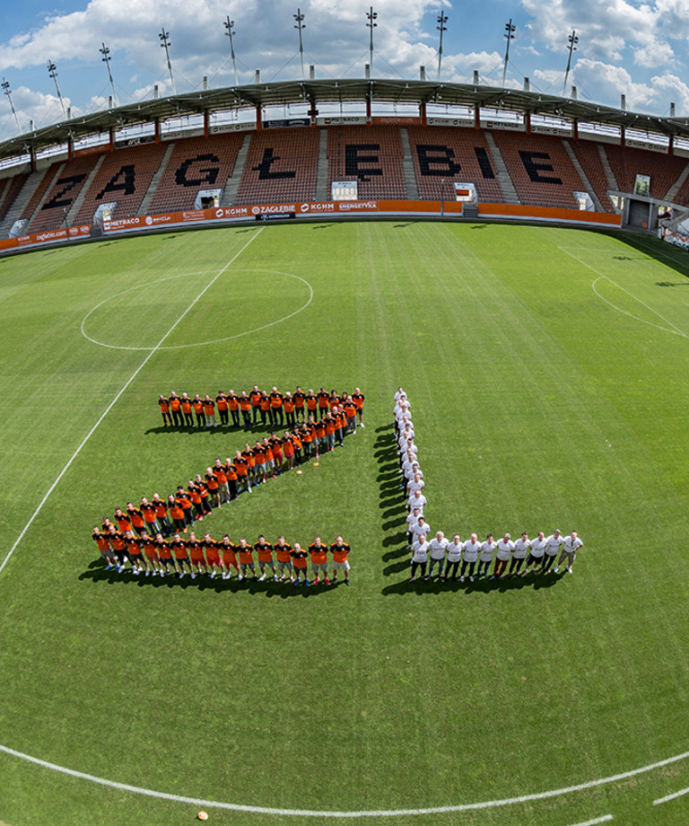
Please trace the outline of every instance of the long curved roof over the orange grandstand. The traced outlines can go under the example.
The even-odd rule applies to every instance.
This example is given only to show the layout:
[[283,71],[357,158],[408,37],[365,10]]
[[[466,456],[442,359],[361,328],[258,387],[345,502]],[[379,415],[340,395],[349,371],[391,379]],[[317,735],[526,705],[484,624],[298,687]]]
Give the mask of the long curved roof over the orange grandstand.
[[203,92],[129,103],[116,109],[80,115],[78,118],[37,129],[0,143],[0,159],[33,150],[64,145],[71,138],[83,138],[206,111],[242,110],[257,106],[286,104],[352,103],[371,99],[375,103],[428,103],[447,106],[478,106],[480,109],[551,116],[565,120],[638,129],[661,136],[689,138],[689,119],[658,118],[637,112],[613,109],[597,103],[473,83],[438,83],[391,79],[303,80],[281,83],[253,83],[227,86]]

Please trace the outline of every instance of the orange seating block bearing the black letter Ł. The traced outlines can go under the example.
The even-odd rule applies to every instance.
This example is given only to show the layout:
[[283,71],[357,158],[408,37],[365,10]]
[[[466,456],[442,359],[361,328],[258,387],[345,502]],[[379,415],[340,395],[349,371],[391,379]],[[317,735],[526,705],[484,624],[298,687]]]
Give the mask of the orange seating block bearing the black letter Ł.
[[251,136],[236,203],[313,200],[320,129],[265,129]]

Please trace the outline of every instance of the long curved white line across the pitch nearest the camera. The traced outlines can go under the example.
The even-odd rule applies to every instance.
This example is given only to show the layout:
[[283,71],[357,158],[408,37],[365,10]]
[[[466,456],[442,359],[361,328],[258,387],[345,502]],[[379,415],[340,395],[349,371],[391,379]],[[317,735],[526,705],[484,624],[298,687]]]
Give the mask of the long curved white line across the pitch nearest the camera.
[[[494,809],[499,806],[509,806],[512,804],[529,803],[535,800],[545,800],[549,797],[560,797],[562,795],[571,795],[573,792],[584,791],[596,786],[606,786],[606,784],[615,783],[619,780],[626,780],[645,772],[653,771],[653,769],[660,769],[670,763],[676,763],[679,760],[686,760],[689,757],[689,751],[684,754],[677,754],[675,757],[669,757],[667,760],[659,760],[657,763],[650,763],[648,766],[641,766],[640,769],[632,769],[631,771],[624,771],[622,774],[611,775],[609,778],[599,778],[598,780],[589,780],[588,783],[580,783],[577,786],[567,786],[566,788],[552,789],[547,792],[537,792],[533,795],[519,795],[519,797],[505,797],[501,800],[485,800],[481,803],[469,803],[458,806],[434,806],[427,809],[373,809],[371,811],[361,812],[318,812],[311,809],[273,809],[266,806],[248,806],[237,803],[222,803],[216,800],[204,800],[201,797],[184,797],[182,795],[170,795],[167,792],[156,792],[153,789],[141,788],[139,786],[129,786],[126,783],[117,783],[114,780],[106,780],[104,778],[97,778],[90,774],[85,774],[83,771],[75,771],[74,769],[66,769],[64,766],[57,766],[56,763],[48,763],[47,760],[40,760],[38,757],[31,757],[29,754],[24,754],[22,751],[15,751],[7,746],[0,745],[0,751],[5,754],[17,757],[20,760],[28,760],[30,763],[35,763],[42,766],[44,769],[51,769],[58,771],[61,774],[69,775],[72,778],[79,778],[82,780],[90,780],[92,783],[98,783],[100,786],[109,786],[110,788],[117,788],[121,791],[132,792],[135,795],[146,795],[147,797],[158,797],[162,800],[172,800],[176,803],[193,804],[195,806],[204,806],[208,809],[230,809],[233,812],[248,812],[253,814],[275,814],[281,816],[299,816],[299,817],[322,817],[322,818],[364,818],[364,817],[410,817],[416,814],[445,814],[450,812],[469,812],[476,809]],[[657,801],[662,803],[663,801]],[[594,823],[602,823],[612,820],[612,815],[606,814],[603,818],[586,823],[577,824],[577,826],[592,826]]]

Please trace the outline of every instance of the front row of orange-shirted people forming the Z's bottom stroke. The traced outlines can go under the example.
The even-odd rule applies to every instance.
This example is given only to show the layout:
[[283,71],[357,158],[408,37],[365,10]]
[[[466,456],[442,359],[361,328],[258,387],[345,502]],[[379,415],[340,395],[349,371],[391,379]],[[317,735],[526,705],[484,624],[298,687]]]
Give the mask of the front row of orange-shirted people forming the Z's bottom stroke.
[[[244,537],[235,544],[227,533],[222,540],[214,540],[209,533],[203,539],[197,539],[196,533],[191,532],[187,539],[175,532],[168,540],[160,532],[155,535],[144,532],[137,536],[132,530],[118,531],[114,525],[103,523],[100,527],[94,525],[92,539],[106,563],[105,569],[114,569],[119,574],[125,572],[128,562],[131,573],[136,576],[177,574],[181,579],[188,571],[192,579],[202,574],[214,579],[216,573],[222,579],[231,579],[234,569],[239,581],[251,577],[263,582],[272,576],[275,582],[289,580],[295,585],[301,582],[309,585],[307,559],[310,558],[312,584],[321,580],[327,585],[336,583],[339,573],[345,577],[345,584],[349,584],[351,547],[342,536],[328,545],[317,535],[307,548],[302,548],[299,542],[291,545],[283,536],[271,543],[259,534],[253,545]],[[332,556],[330,578],[327,576],[328,553]]]

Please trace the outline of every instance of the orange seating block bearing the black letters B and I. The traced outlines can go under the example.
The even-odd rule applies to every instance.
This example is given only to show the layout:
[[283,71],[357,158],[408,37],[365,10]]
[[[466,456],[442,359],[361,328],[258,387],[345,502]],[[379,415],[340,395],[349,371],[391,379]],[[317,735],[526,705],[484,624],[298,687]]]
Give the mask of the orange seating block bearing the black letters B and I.
[[[484,133],[457,127],[408,127],[414,171],[422,200],[454,198],[451,182],[474,183],[479,201],[501,203],[500,182]],[[449,181],[440,192],[443,178]]]

